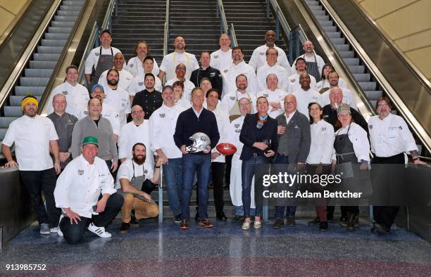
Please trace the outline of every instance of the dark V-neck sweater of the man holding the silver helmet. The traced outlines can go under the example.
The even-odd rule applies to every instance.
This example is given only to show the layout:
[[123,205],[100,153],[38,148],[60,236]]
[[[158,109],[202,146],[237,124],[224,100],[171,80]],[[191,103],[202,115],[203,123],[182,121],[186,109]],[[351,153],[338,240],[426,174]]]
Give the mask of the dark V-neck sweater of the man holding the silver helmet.
[[[218,140],[220,139],[220,134],[218,134],[217,121],[215,120],[213,112],[206,110],[206,108],[202,108],[199,118],[196,117],[193,108],[189,108],[188,110],[181,112],[178,116],[177,126],[175,127],[175,145],[178,148],[181,148],[183,145],[191,145],[193,141],[189,140],[189,137],[199,131],[210,138],[211,149],[217,145]],[[199,152],[194,154],[204,153]]]

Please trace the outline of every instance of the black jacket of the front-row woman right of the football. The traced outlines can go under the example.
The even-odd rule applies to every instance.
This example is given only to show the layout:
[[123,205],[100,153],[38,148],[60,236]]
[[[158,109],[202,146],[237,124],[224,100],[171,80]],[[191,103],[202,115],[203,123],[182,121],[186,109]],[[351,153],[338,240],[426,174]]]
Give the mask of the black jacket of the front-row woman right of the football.
[[[277,152],[277,121],[268,116],[268,120],[260,130],[256,128],[257,121],[257,113],[246,115],[244,118],[241,134],[239,134],[239,141],[244,143],[241,156],[239,157],[240,160],[249,160],[255,155],[266,157],[263,155],[262,150],[253,147],[253,143],[262,142],[263,139],[270,139],[270,150]],[[271,157],[266,157],[266,162],[270,163],[270,160]]]

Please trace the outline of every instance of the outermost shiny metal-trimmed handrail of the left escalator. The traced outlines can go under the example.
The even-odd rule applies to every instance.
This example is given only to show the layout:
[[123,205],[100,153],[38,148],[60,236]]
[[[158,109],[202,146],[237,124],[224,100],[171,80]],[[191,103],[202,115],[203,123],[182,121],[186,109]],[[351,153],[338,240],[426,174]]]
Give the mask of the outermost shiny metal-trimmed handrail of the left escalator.
[[54,18],[54,15],[56,15],[56,12],[60,4],[61,4],[61,0],[55,0],[54,4],[52,4],[51,8],[49,8],[49,11],[46,13],[44,20],[42,20],[42,23],[39,25],[39,28],[37,28],[35,35],[32,37],[23,55],[18,60],[18,63],[16,63],[16,66],[15,68],[13,68],[13,71],[11,75],[9,75],[8,80],[1,88],[0,107],[4,106],[4,103],[8,99],[9,94],[11,93],[16,82],[18,81],[18,78],[22,75],[23,70],[25,69],[30,58],[32,58],[32,55],[35,52],[35,49],[39,44],[40,39],[42,39],[42,36],[44,35],[45,31],[48,29],[49,23]]

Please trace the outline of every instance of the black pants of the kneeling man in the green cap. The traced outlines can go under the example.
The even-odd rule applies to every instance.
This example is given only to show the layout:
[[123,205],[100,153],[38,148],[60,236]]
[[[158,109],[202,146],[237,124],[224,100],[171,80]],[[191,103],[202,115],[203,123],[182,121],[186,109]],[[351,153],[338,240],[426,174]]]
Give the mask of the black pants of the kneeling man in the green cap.
[[63,232],[65,240],[70,244],[79,243],[82,236],[84,236],[85,228],[87,228],[91,222],[98,227],[108,226],[117,216],[118,212],[120,212],[123,202],[123,195],[114,193],[109,196],[104,212],[93,215],[91,219],[80,217],[81,221],[78,221],[78,224],[75,224],[75,221],[73,221],[73,224],[70,224],[70,218],[63,217],[60,222],[60,229]]

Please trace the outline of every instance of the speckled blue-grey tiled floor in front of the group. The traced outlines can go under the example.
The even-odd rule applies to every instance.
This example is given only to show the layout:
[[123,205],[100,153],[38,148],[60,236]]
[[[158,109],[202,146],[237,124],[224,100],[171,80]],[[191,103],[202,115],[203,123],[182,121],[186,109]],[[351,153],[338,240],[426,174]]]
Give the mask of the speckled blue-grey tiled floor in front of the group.
[[[298,220],[295,227],[242,231],[239,224],[215,221],[215,228],[192,224],[180,230],[154,219],[109,239],[89,231],[79,245],[30,226],[1,252],[6,264],[46,264],[46,271],[15,271],[44,276],[431,276],[431,245],[394,228],[388,236],[370,233],[363,221],[347,233],[337,222],[327,233]],[[8,271],[11,273],[11,271]]]

